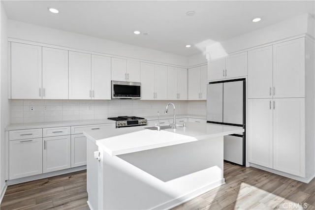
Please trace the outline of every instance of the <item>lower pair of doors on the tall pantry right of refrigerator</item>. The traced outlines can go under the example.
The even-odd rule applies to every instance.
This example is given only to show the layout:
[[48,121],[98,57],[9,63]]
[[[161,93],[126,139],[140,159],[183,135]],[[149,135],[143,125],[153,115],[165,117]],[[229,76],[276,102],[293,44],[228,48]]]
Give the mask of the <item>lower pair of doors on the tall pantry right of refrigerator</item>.
[[249,162],[305,177],[305,98],[249,99]]

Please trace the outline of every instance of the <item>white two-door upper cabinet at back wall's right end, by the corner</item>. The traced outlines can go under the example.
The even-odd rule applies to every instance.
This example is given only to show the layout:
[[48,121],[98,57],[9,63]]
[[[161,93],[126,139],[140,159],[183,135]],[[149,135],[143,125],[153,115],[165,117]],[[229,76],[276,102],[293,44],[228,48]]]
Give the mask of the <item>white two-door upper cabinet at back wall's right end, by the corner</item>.
[[167,66],[168,99],[187,100],[187,69]]

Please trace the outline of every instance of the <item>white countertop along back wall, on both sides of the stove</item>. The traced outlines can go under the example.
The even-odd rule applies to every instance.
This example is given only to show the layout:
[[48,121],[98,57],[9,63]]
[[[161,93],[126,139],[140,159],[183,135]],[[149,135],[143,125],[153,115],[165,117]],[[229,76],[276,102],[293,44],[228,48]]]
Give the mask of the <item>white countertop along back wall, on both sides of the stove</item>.
[[[141,116],[140,116],[141,117]],[[158,116],[144,116],[147,120],[158,120]],[[203,115],[177,115],[179,118],[198,118],[206,119]],[[162,115],[160,120],[173,119],[173,115]],[[22,130],[22,129],[35,129],[47,127],[63,127],[63,126],[77,126],[77,125],[93,125],[93,124],[110,124],[115,123],[113,120],[99,119],[99,120],[71,120],[71,121],[55,121],[55,122],[33,122],[33,123],[17,123],[10,124],[5,127],[5,130]]]

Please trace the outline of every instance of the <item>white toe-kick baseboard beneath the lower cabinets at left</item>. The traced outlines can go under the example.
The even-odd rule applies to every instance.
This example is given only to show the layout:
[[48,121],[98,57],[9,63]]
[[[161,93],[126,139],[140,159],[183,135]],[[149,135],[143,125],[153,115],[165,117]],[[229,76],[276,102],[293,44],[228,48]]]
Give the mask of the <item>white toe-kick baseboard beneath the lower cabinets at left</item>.
[[87,166],[78,166],[75,168],[68,168],[68,169],[63,169],[60,171],[54,171],[54,172],[49,172],[49,173],[45,173],[45,174],[38,174],[38,175],[34,175],[34,176],[30,176],[30,177],[23,177],[23,178],[19,178],[19,179],[14,179],[14,180],[7,180],[6,183],[8,186],[13,185],[13,184],[19,184],[19,183],[23,183],[23,182],[27,182],[27,181],[33,181],[33,180],[40,180],[40,179],[44,179],[44,178],[48,178],[48,177],[54,177],[54,176],[58,176],[58,175],[62,175],[62,174],[68,174],[68,173],[72,173],[72,172],[76,172],[76,171],[82,171],[87,169]]

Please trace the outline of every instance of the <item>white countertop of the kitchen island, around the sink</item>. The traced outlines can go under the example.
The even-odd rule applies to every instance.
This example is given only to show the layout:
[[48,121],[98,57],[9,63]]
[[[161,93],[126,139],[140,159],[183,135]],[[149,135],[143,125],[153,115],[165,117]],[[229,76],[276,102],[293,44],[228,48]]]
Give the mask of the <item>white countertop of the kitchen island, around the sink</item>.
[[186,125],[185,128],[160,131],[138,126],[113,129],[111,132],[87,130],[83,133],[102,150],[115,156],[244,132],[242,127],[236,126],[196,122],[187,122]]

